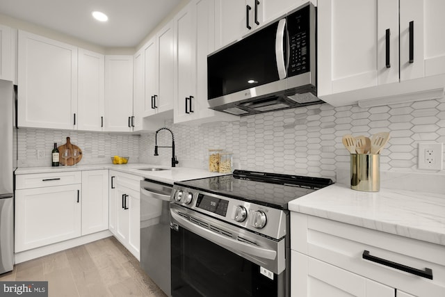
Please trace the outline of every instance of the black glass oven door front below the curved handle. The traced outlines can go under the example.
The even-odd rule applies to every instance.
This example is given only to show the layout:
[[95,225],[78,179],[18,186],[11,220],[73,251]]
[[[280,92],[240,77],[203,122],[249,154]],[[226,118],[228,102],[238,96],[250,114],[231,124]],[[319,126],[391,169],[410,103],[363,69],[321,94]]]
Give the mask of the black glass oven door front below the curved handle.
[[181,226],[170,234],[172,296],[283,296],[278,288],[284,273],[274,273],[271,280],[257,264]]

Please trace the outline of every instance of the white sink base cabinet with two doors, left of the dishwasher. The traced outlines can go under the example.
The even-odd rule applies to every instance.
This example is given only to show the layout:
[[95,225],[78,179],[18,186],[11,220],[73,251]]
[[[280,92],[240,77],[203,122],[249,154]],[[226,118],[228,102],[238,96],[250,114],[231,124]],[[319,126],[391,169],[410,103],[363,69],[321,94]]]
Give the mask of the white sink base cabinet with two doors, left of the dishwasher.
[[140,259],[140,179],[110,170],[109,229],[136,259]]

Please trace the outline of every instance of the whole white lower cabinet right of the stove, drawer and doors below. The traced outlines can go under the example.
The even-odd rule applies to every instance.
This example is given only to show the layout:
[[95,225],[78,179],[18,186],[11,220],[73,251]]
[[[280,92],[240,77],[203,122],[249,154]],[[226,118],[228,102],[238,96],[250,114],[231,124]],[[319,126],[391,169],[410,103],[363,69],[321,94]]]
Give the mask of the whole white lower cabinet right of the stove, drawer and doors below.
[[[444,250],[292,212],[291,296],[445,296]],[[415,274],[419,272],[424,275]]]

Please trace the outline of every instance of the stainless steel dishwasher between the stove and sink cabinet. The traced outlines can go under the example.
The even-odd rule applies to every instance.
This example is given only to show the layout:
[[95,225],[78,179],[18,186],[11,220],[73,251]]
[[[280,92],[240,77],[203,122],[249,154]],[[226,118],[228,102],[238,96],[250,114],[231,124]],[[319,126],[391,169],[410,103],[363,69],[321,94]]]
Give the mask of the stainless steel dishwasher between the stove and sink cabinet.
[[172,185],[140,181],[140,266],[171,296],[170,194]]

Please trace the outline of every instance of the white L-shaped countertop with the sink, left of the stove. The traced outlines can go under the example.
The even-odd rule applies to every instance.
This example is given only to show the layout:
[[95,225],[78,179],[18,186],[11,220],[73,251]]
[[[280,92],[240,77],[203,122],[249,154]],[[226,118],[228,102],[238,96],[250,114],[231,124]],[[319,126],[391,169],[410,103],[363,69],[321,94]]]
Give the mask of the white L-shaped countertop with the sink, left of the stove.
[[[165,168],[167,170],[159,171],[144,171],[140,168]],[[27,167],[17,168],[16,175],[26,175],[33,173],[51,173],[51,172],[67,172],[67,171],[82,171],[82,170],[99,170],[110,169],[120,172],[138,175],[147,179],[152,179],[166,184],[173,184],[174,182],[184,181],[188,179],[199,179],[204,177],[213,177],[217,175],[225,175],[227,173],[209,172],[208,170],[187,167],[165,167],[159,165],[145,164],[145,163],[129,163],[129,164],[97,164],[97,165],[78,165],[78,166],[58,166],[58,167]]]

